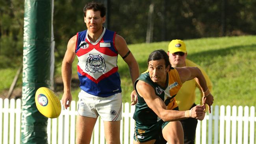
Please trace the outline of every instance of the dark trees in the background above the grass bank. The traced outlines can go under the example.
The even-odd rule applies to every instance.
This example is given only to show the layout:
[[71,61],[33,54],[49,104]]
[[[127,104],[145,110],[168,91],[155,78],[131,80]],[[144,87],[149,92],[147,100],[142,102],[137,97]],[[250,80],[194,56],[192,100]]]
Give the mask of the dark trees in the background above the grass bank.
[[[146,42],[147,31],[149,42],[256,34],[255,0],[95,1],[108,6],[106,26],[128,44]],[[57,61],[63,58],[70,37],[85,30],[83,6],[87,2],[90,0],[54,1]],[[0,0],[0,68],[22,63],[23,18],[23,0]]]

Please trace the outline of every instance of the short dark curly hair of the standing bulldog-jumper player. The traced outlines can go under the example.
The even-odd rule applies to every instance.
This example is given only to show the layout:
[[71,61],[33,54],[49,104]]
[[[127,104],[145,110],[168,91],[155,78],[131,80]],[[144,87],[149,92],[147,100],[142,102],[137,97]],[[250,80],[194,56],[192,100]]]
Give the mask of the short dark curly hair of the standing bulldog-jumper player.
[[104,4],[89,2],[83,7],[84,17],[86,17],[86,11],[90,9],[92,9],[93,11],[100,11],[100,17],[104,17],[106,15],[106,7],[104,6]]

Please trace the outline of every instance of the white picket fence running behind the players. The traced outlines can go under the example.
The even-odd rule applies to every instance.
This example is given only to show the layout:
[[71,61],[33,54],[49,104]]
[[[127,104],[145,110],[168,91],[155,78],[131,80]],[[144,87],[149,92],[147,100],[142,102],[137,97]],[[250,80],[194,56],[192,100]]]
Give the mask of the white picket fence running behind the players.
[[[49,144],[75,144],[76,102],[58,118],[48,119]],[[237,109],[238,108],[238,109]],[[123,104],[120,138],[122,144],[132,144],[134,106]],[[196,144],[254,144],[256,117],[254,106],[212,107],[212,113],[198,121]],[[0,144],[20,144],[21,100],[0,99]],[[91,144],[106,144],[103,121],[98,118]]]

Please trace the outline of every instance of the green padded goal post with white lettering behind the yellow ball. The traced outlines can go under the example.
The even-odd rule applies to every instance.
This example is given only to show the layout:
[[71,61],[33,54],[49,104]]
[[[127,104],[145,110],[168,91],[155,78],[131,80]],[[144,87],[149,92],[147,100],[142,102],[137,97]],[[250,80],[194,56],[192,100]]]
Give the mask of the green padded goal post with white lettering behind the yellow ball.
[[35,106],[39,87],[51,87],[52,0],[25,0],[22,72],[22,144],[47,144],[47,120]]

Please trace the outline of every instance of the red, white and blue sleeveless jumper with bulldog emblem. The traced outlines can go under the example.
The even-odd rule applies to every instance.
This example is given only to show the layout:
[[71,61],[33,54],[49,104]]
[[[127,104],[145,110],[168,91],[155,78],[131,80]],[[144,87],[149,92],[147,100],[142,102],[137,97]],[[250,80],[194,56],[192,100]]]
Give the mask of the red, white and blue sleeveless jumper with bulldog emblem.
[[115,35],[114,31],[103,28],[99,39],[92,42],[87,30],[77,33],[75,52],[80,88],[94,96],[108,97],[122,91]]

